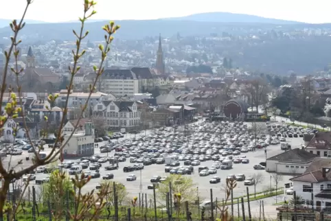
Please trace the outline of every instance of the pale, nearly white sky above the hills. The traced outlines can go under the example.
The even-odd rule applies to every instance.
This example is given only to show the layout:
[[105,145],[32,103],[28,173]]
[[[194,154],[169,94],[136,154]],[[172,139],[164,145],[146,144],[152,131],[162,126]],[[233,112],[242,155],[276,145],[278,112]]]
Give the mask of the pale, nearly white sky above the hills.
[[[0,0],[0,19],[18,19],[26,0]],[[83,0],[33,0],[26,19],[77,20]],[[331,23],[331,0],[96,0],[93,19],[162,19],[203,12],[252,14],[306,23]],[[3,7],[4,6],[4,7]]]

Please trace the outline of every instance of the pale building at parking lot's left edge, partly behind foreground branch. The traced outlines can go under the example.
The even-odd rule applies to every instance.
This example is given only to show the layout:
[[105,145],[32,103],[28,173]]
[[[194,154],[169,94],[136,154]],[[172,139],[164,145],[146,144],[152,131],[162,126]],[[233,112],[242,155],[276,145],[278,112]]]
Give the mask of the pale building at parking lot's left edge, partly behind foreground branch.
[[[68,121],[63,128],[65,141],[69,139],[77,120]],[[89,119],[80,119],[78,127],[62,150],[63,158],[92,156],[94,154],[94,126]]]

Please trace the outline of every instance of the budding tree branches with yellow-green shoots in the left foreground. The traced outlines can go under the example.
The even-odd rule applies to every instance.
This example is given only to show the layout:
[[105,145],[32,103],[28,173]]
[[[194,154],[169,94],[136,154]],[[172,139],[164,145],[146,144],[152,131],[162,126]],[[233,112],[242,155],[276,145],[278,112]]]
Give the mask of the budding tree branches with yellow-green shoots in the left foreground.
[[[50,153],[43,159],[39,157],[38,151],[43,150],[43,146],[36,147],[34,143],[32,143],[32,140],[30,138],[30,135],[27,130],[27,123],[25,120],[23,121],[23,125],[25,127],[25,131],[27,131],[27,140],[30,142],[30,144],[36,148],[34,148],[36,151],[34,152],[34,160],[32,161],[32,165],[27,167],[18,167],[17,165],[10,165],[8,168],[7,166],[3,165],[2,159],[0,159],[0,174],[1,174],[1,180],[2,180],[2,186],[0,188],[0,220],[3,220],[3,214],[8,214],[8,220],[14,220],[15,214],[18,212],[18,208],[16,205],[21,205],[23,194],[25,193],[25,190],[27,189],[27,186],[29,185],[30,181],[27,180],[25,182],[25,187],[23,187],[23,192],[19,199],[16,201],[16,203],[8,202],[7,201],[7,194],[10,187],[10,182],[13,179],[19,180],[22,178],[23,175],[29,174],[32,170],[36,170],[36,167],[39,167],[41,165],[47,165],[49,163],[55,162],[58,160],[60,154],[62,153],[63,148],[65,145],[67,145],[69,139],[72,137],[74,132],[76,131],[76,128],[79,125],[79,121],[82,118],[82,115],[84,111],[87,109],[87,104],[89,102],[89,99],[91,97],[91,93],[95,91],[95,84],[98,81],[98,78],[100,78],[100,75],[104,72],[104,61],[106,60],[107,54],[109,54],[110,51],[110,45],[113,41],[113,34],[119,29],[118,25],[115,25],[115,23],[111,22],[107,25],[104,25],[102,29],[104,30],[104,43],[99,45],[100,50],[100,64],[98,66],[93,66],[93,71],[95,73],[95,81],[93,84],[89,86],[89,96],[87,97],[87,100],[85,104],[82,104],[81,106],[81,112],[78,117],[78,121],[76,125],[74,125],[74,129],[71,132],[71,135],[69,136],[69,139],[64,139],[62,137],[62,128],[65,125],[65,122],[67,120],[67,113],[68,113],[68,98],[70,92],[73,90],[73,78],[80,70],[80,67],[78,66],[80,62],[80,58],[84,56],[85,50],[81,49],[81,43],[84,38],[86,38],[89,35],[89,32],[84,30],[84,25],[86,24],[87,20],[90,19],[93,14],[95,14],[95,10],[93,10],[95,1],[90,0],[82,0],[83,3],[83,16],[80,17],[80,30],[76,32],[73,30],[73,35],[76,37],[76,48],[72,50],[72,56],[73,56],[73,62],[72,65],[69,66],[69,79],[66,88],[67,88],[67,99],[65,102],[65,105],[62,107],[62,119],[60,119],[60,124],[58,128],[56,129],[56,141],[55,143],[60,143],[60,148],[56,148],[55,146],[52,148]],[[9,119],[14,119],[16,117],[21,116],[23,119],[25,119],[25,111],[23,110],[23,102],[22,102],[22,87],[19,82],[19,79],[21,78],[21,75],[23,74],[24,69],[19,67],[19,55],[21,54],[21,51],[19,50],[19,45],[21,44],[21,40],[19,40],[18,36],[25,27],[25,14],[32,4],[32,0],[26,1],[25,10],[23,12],[23,15],[19,21],[13,20],[12,23],[10,23],[10,28],[12,30],[12,37],[11,44],[8,50],[4,51],[5,54],[5,64],[3,67],[3,73],[2,73],[2,81],[1,81],[1,87],[0,87],[0,108],[1,110],[4,110],[4,113],[0,116],[0,128],[3,130],[3,126],[6,124],[6,122]],[[10,67],[10,60],[14,59],[14,66]],[[8,85],[8,79],[10,79],[10,75],[14,76],[14,79],[16,82],[14,85]],[[10,93],[10,99],[4,100],[5,93]],[[47,109],[52,109],[55,105],[56,99],[58,98],[58,95],[51,94],[48,97],[48,102],[50,104]],[[3,104],[3,102],[5,104]],[[45,121],[48,121],[47,117],[45,117]],[[16,135],[18,131],[18,126],[13,127],[13,135]],[[37,151],[38,150],[38,151]],[[60,157],[62,159],[62,157]],[[20,162],[18,163],[20,164]],[[58,172],[56,174],[57,181],[56,185],[65,185],[67,183],[67,176],[65,176],[64,173]],[[76,176],[75,178],[71,179],[71,182],[73,183],[73,188],[76,189],[75,191],[71,191],[71,196],[75,199],[75,208],[72,211],[66,211],[69,213],[69,220],[98,220],[98,215],[100,214],[101,209],[105,205],[105,197],[109,194],[110,188],[109,185],[102,185],[102,188],[98,192],[98,194],[94,193],[94,190],[87,192],[87,194],[82,193],[82,187],[86,185],[89,182],[90,178],[84,178],[84,174],[81,174],[80,176]],[[58,186],[60,187],[60,186]],[[60,190],[60,189],[59,189]],[[62,189],[63,191],[64,189]],[[54,215],[53,220],[61,220],[60,215],[58,216],[57,213]]]

